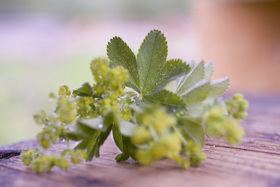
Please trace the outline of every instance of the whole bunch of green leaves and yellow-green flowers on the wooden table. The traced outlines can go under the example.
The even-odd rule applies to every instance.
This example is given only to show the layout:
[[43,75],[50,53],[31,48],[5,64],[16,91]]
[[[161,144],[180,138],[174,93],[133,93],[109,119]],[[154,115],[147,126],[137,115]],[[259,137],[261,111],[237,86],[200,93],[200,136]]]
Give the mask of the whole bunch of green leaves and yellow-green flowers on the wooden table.
[[[214,66],[185,63],[167,58],[164,34],[153,30],[144,39],[137,57],[127,44],[114,37],[107,45],[108,58],[97,58],[90,68],[94,80],[69,90],[61,86],[53,112],[34,115],[43,125],[37,135],[41,150],[22,151],[21,159],[36,172],[53,166],[69,168],[72,163],[99,157],[99,148],[112,131],[121,153],[116,161],[129,157],[142,165],[168,158],[183,168],[206,158],[201,151],[205,135],[224,137],[236,144],[244,135],[239,123],[247,116],[248,101],[234,94],[223,101],[219,96],[229,86],[229,78],[211,81]],[[177,80],[177,78],[179,78]],[[165,86],[175,80],[174,91]],[[68,149],[61,156],[44,153],[57,140]],[[69,141],[75,141],[70,149]]]

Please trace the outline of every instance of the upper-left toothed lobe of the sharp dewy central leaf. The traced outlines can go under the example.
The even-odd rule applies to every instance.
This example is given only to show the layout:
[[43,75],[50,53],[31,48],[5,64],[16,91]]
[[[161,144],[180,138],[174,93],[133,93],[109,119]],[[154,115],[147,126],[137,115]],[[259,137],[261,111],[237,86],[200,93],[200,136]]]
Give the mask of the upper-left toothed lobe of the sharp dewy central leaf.
[[108,42],[107,55],[111,61],[111,66],[123,66],[129,73],[130,82],[128,87],[139,90],[139,75],[136,57],[127,44],[120,38],[114,37]]

